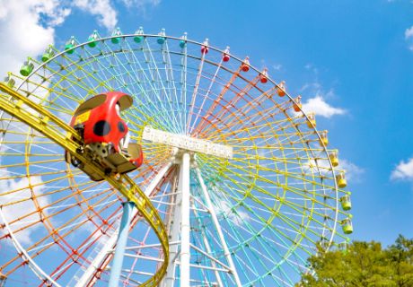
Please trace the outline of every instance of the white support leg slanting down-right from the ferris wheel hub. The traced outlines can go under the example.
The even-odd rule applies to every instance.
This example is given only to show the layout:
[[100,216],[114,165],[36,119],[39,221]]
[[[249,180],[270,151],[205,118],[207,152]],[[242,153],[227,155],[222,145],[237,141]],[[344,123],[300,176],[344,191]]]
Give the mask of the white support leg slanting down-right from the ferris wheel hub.
[[216,232],[218,233],[218,237],[224,248],[224,256],[226,257],[226,260],[228,261],[228,265],[230,265],[231,273],[233,274],[233,280],[237,287],[242,287],[240,277],[237,273],[235,265],[233,264],[233,257],[231,256],[230,250],[228,249],[228,246],[226,245],[223,230],[221,230],[221,225],[219,224],[218,218],[216,217],[214,205],[212,204],[211,197],[209,196],[208,190],[206,189],[206,185],[205,185],[204,179],[202,178],[201,171],[198,168],[196,168],[196,170],[197,170],[197,177],[199,180],[199,184],[201,185],[201,190],[206,200],[206,205],[208,206],[209,213],[211,214],[212,221],[214,222]]

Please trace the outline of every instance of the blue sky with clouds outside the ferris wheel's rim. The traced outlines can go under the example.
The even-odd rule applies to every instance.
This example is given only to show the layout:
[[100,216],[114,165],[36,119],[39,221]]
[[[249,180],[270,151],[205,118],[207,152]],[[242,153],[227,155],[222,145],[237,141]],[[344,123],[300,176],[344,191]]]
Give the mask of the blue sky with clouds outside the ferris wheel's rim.
[[[10,1],[12,2],[12,1]],[[377,1],[0,0],[0,72],[16,70],[49,43],[115,27],[209,39],[268,67],[347,163],[353,239],[413,238],[413,4]],[[324,117],[323,117],[324,116]]]

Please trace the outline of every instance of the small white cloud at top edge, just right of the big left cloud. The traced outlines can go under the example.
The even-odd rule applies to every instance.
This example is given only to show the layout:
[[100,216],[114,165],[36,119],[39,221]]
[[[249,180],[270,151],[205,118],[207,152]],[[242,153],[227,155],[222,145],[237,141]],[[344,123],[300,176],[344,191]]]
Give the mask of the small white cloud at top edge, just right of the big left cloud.
[[108,30],[118,23],[118,13],[110,4],[110,0],[75,0],[75,7],[98,17],[98,23]]

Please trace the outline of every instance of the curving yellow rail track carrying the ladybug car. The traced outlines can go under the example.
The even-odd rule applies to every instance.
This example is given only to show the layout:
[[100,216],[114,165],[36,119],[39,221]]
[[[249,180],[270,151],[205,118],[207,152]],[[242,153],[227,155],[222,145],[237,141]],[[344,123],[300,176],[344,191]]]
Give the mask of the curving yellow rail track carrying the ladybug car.
[[[163,248],[163,265],[151,279],[142,284],[142,286],[157,286],[162,280],[163,275],[166,273],[166,268],[169,262],[169,242],[163,221],[150,199],[145,196],[144,192],[136,186],[135,182],[127,177],[127,175],[122,175],[120,178],[113,178],[105,175],[104,171],[101,170],[99,166],[88,161],[82,154],[77,153],[76,149],[79,147],[79,143],[76,143],[74,138],[76,140],[81,139],[79,135],[77,135],[75,129],[68,126],[60,118],[56,117],[48,110],[43,109],[40,105],[29,100],[19,92],[10,89],[8,86],[4,85],[4,83],[0,83],[0,91],[4,92],[3,94],[0,94],[0,109],[3,109],[9,115],[19,119],[59,144],[66,151],[73,154],[77,160],[83,162],[85,166],[90,167],[102,178],[105,178],[110,186],[118,189],[128,201],[132,201],[136,204],[137,210],[154,229]],[[32,111],[28,108],[32,109]],[[33,111],[35,114],[39,113],[39,115],[33,115]]]

